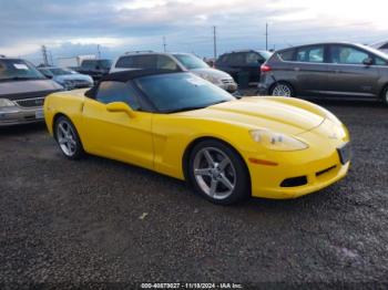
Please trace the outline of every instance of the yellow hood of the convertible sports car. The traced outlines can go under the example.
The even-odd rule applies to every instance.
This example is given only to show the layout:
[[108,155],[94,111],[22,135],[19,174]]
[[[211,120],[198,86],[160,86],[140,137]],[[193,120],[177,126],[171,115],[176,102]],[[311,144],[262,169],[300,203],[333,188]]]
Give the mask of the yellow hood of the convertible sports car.
[[264,97],[244,97],[180,114],[239,125],[248,130],[267,128],[289,135],[310,131],[325,121],[321,115],[305,108]]

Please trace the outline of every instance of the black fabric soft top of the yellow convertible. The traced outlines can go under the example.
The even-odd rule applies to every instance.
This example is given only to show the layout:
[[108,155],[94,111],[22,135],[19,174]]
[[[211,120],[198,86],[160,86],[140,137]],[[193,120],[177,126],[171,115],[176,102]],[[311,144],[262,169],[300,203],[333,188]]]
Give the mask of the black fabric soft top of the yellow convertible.
[[122,71],[114,72],[110,74],[105,74],[101,77],[101,80],[94,84],[89,91],[85,92],[85,96],[95,99],[96,91],[99,89],[100,83],[102,82],[122,82],[126,83],[127,81],[132,81],[137,77],[157,75],[157,74],[169,74],[169,73],[178,73],[184,72],[181,69],[178,70],[133,70],[133,71]]

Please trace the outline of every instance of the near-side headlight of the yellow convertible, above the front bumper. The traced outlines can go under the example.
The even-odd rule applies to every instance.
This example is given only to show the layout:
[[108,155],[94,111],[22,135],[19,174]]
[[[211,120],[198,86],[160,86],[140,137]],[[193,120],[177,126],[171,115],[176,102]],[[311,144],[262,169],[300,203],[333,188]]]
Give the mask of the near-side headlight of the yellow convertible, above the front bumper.
[[282,133],[254,130],[249,134],[255,142],[272,151],[303,151],[308,148],[308,145],[302,141]]

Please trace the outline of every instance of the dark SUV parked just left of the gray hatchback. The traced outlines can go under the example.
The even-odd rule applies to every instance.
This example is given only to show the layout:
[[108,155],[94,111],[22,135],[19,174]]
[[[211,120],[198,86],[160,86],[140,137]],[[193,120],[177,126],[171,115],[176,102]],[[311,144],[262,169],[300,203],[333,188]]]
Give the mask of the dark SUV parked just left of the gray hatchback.
[[233,51],[222,54],[215,62],[215,68],[231,74],[241,85],[242,79],[248,83],[257,83],[261,77],[261,65],[269,59],[270,54],[268,51]]

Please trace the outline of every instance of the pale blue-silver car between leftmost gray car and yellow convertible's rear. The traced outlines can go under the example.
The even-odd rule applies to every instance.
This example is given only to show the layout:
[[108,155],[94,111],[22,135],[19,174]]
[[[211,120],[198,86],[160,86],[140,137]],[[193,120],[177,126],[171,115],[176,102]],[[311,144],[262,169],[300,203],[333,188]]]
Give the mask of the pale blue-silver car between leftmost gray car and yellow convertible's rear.
[[65,90],[91,87],[94,84],[92,76],[72,70],[57,66],[42,66],[38,68],[38,70]]

